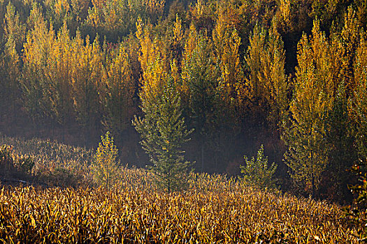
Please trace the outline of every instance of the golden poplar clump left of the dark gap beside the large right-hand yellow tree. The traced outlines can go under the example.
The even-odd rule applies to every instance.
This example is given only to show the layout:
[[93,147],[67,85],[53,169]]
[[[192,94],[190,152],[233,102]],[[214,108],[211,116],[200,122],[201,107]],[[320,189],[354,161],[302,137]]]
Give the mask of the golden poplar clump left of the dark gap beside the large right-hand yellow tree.
[[261,123],[262,112],[267,116],[268,123],[274,132],[278,130],[278,125],[289,105],[285,50],[282,38],[275,28],[275,22],[276,20],[273,20],[269,31],[258,24],[254,26],[250,47],[245,57],[257,122]]

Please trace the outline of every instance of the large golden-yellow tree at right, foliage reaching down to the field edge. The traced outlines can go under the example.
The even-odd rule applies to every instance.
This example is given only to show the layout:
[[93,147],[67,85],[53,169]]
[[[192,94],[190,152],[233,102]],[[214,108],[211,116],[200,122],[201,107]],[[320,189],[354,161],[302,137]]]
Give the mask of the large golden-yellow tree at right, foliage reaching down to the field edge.
[[288,146],[285,163],[291,176],[312,197],[317,195],[328,162],[324,122],[333,104],[328,59],[329,43],[315,21],[312,38],[308,40],[304,34],[298,43],[294,99],[283,137]]

